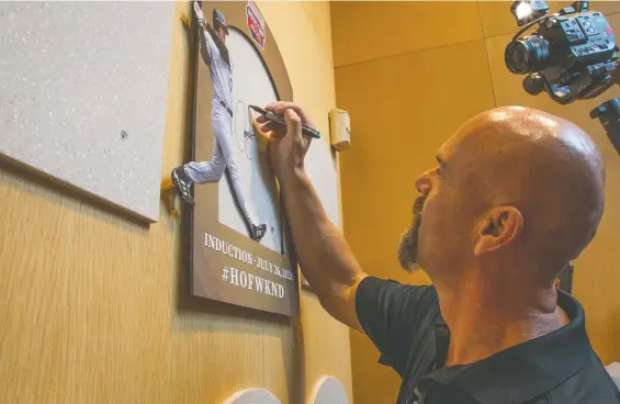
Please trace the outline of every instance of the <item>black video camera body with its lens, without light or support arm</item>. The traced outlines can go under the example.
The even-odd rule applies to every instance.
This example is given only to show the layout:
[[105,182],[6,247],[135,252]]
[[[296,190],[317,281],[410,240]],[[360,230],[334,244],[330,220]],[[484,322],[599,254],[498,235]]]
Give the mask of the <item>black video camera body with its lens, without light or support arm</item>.
[[527,92],[545,90],[566,104],[597,97],[613,85],[610,74],[617,68],[618,48],[602,13],[565,8],[538,20],[538,30],[523,37],[517,34],[505,53],[511,72],[528,75]]

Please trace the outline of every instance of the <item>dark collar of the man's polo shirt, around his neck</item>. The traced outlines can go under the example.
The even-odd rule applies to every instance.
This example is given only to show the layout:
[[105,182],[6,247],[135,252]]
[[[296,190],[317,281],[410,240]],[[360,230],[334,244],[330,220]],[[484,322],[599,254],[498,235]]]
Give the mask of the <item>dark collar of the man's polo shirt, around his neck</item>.
[[591,356],[582,305],[560,290],[557,304],[571,319],[565,326],[478,362],[439,369],[425,377],[420,388],[454,385],[481,403],[493,404],[525,402],[552,390]]

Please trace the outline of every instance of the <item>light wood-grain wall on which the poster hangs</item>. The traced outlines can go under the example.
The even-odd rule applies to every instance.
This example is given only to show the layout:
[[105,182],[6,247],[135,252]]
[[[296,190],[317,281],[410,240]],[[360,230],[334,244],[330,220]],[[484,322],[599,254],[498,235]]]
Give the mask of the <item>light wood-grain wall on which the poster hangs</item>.
[[[164,172],[182,161],[189,71],[178,2]],[[295,101],[327,131],[329,5],[260,2]],[[308,61],[307,55],[314,55]],[[303,292],[301,321],[177,308],[181,227],[145,226],[0,169],[0,391],[7,403],[219,403],[260,386],[302,403],[325,374],[351,396],[348,330]]]

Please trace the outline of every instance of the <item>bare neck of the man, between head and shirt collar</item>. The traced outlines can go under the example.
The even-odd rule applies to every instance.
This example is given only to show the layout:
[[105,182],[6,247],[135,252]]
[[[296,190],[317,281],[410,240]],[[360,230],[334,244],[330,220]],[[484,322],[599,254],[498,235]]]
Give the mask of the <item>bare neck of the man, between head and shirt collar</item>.
[[516,283],[467,278],[451,287],[435,282],[450,328],[447,366],[482,360],[568,323],[554,287],[527,292]]

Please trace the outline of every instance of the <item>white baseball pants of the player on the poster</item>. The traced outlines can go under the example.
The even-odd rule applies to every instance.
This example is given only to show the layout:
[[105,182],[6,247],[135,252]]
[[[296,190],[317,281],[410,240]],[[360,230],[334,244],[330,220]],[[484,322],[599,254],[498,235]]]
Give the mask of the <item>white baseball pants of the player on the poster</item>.
[[237,202],[241,206],[241,211],[246,221],[255,226],[259,224],[258,216],[248,203],[241,188],[241,175],[235,162],[235,150],[233,149],[233,116],[213,102],[213,132],[215,139],[213,144],[213,157],[208,161],[191,161],[184,166],[185,172],[194,183],[214,183],[218,182],[224,175],[224,169],[228,168],[230,181],[233,182],[233,191],[237,197]]

